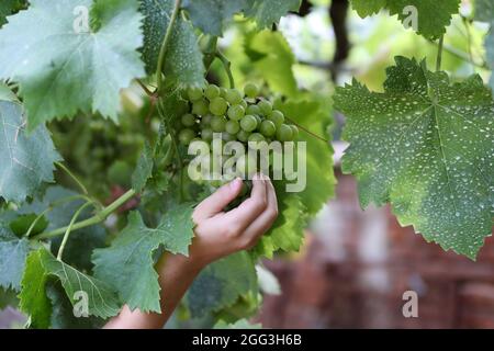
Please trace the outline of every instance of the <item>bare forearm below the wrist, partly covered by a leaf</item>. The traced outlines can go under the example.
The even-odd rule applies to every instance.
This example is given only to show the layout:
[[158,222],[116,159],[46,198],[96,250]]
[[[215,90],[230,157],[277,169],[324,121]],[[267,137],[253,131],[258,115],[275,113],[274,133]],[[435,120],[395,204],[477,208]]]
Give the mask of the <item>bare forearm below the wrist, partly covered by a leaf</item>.
[[199,274],[201,268],[181,254],[165,254],[156,264],[161,288],[161,314],[131,312],[124,307],[119,316],[111,319],[108,329],[160,329],[170,318],[180,299]]

